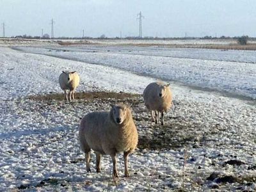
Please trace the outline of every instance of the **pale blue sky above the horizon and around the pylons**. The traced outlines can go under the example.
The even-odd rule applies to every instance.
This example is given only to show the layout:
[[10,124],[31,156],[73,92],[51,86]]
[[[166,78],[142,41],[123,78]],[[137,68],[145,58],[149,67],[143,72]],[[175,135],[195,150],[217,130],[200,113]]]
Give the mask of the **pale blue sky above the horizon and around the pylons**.
[[[6,36],[256,36],[255,0],[0,0]],[[2,36],[2,27],[0,36]]]

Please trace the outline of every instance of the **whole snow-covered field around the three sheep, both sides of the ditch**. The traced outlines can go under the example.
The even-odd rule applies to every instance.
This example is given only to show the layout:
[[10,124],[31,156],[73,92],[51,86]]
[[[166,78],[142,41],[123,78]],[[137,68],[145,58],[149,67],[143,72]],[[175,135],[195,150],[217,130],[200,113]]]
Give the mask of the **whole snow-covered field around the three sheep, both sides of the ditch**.
[[[143,54],[135,54],[136,47],[131,47],[131,52],[124,47],[108,47],[106,51],[93,45],[59,48],[19,48],[26,51],[22,52],[0,47],[0,191],[256,190],[255,100],[242,97],[255,99],[253,54],[251,63],[245,63],[246,56],[230,62],[232,53],[227,59],[227,52],[221,57],[218,51],[215,59],[209,60],[204,50],[197,50],[203,58],[191,59],[186,53],[182,56],[180,49],[176,49],[180,56],[175,58],[161,55],[161,51],[168,52],[162,48],[143,49]],[[151,56],[152,52],[157,55]],[[111,102],[122,99],[95,97],[71,103],[35,99],[44,93],[62,93],[58,85],[62,70],[79,72],[78,92],[141,94],[148,83],[156,81],[154,78],[173,80],[173,108],[163,127],[148,122],[150,116],[140,95],[123,99],[133,103],[141,141],[129,160],[129,179],[122,177],[122,156],[118,156],[121,177],[116,183],[109,177],[108,156],[102,159],[102,173],[95,173],[95,169],[86,173],[77,142],[79,122],[86,113],[108,110]],[[218,92],[176,81],[214,86]],[[227,97],[222,92],[233,95]]]

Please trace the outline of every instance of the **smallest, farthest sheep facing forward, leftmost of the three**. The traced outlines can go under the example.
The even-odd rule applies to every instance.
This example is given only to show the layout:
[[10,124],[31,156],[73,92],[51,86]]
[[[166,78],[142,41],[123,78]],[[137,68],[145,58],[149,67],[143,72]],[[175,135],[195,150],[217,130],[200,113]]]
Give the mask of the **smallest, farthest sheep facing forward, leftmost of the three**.
[[68,94],[69,94],[69,99],[71,101],[71,95],[72,99],[74,99],[74,92],[79,85],[79,75],[77,74],[76,71],[74,72],[65,72],[62,71],[59,77],[59,83],[61,89],[65,93],[65,99],[68,100]]

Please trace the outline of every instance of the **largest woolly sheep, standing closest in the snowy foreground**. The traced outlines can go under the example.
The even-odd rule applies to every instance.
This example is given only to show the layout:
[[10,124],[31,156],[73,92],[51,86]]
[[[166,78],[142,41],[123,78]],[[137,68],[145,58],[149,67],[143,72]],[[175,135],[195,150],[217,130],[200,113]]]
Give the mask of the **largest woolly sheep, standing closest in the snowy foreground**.
[[129,177],[128,156],[138,144],[138,132],[132,113],[125,104],[111,104],[111,110],[88,113],[81,120],[79,141],[85,154],[86,171],[90,169],[90,152],[96,153],[96,171],[100,173],[101,155],[108,154],[113,162],[113,177],[118,177],[116,154],[124,152],[125,177]]

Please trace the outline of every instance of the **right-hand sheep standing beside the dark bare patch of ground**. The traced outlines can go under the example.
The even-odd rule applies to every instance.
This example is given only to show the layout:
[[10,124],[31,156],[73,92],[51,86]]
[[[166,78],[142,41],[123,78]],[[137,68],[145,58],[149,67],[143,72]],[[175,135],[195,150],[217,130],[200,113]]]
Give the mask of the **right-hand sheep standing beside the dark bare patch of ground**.
[[145,106],[151,111],[152,122],[156,122],[156,124],[159,123],[159,113],[161,112],[161,125],[164,125],[164,112],[172,106],[172,92],[169,86],[170,83],[164,84],[157,81],[148,84],[143,92]]

